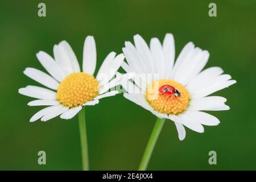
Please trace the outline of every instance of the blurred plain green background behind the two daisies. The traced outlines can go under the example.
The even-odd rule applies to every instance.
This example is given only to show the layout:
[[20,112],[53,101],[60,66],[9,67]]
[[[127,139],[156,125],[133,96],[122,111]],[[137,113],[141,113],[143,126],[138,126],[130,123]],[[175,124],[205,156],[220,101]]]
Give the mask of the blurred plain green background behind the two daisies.
[[[45,18],[38,3],[46,3]],[[110,51],[121,53],[125,40],[141,34],[161,41],[174,34],[176,56],[192,41],[210,52],[207,67],[220,66],[237,84],[214,95],[228,98],[229,111],[212,111],[221,121],[205,133],[189,129],[179,141],[167,121],[148,165],[151,170],[256,169],[255,67],[256,2],[214,1],[217,17],[208,16],[212,1],[7,1],[0,2],[0,169],[80,170],[77,117],[30,123],[43,107],[29,107],[32,98],[18,88],[39,85],[23,75],[26,67],[44,71],[36,59],[40,50],[52,53],[67,40],[82,60],[87,35],[97,45],[97,69]],[[86,108],[89,160],[92,170],[135,170],[155,123],[155,116],[121,94]],[[47,154],[39,166],[38,151]],[[208,152],[217,152],[210,166]]]

